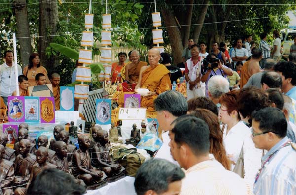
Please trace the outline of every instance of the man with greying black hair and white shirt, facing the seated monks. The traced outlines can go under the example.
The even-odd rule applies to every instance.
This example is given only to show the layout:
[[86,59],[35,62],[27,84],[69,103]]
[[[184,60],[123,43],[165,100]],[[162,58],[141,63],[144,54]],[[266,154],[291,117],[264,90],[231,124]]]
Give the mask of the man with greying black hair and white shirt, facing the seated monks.
[[164,132],[162,134],[163,144],[155,155],[155,158],[166,159],[172,163],[178,164],[173,160],[169,147],[169,131],[171,123],[179,116],[185,115],[188,110],[186,98],[177,91],[166,91],[158,95],[154,100],[154,107],[157,113],[159,127]]

